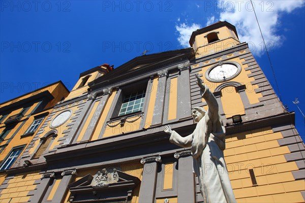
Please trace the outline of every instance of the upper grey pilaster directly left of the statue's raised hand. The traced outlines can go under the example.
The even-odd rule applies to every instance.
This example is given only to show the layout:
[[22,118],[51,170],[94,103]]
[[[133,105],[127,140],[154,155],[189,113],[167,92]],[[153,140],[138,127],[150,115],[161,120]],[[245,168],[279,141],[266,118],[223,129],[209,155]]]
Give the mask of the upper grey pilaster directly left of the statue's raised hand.
[[178,65],[180,76],[178,77],[177,90],[177,118],[191,116],[191,86],[190,86],[190,61]]

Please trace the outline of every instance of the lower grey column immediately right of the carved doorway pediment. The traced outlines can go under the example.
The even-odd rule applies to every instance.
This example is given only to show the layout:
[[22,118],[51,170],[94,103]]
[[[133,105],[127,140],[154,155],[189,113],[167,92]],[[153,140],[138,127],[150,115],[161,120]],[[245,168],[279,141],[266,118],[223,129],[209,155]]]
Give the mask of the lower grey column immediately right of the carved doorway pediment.
[[161,156],[150,156],[141,159],[143,166],[143,176],[140,186],[139,202],[155,202],[157,167],[161,162]]

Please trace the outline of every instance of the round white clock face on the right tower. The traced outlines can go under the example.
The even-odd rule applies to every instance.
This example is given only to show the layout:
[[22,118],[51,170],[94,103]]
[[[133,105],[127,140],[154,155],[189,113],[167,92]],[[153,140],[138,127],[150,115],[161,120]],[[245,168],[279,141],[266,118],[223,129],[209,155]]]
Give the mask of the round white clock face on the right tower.
[[211,82],[223,82],[236,77],[241,71],[240,65],[230,63],[219,63],[210,67],[206,72],[206,79]]

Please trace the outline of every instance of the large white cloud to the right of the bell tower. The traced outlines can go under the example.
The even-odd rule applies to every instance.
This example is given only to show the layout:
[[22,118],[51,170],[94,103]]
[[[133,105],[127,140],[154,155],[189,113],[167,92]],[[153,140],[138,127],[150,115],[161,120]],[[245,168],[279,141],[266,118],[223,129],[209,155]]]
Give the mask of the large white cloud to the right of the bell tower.
[[[280,26],[280,14],[291,13],[304,6],[304,1],[253,1],[255,12],[268,49],[281,46],[283,36],[277,33]],[[249,43],[255,55],[262,55],[264,50],[262,37],[255,19],[250,1],[218,1],[222,6],[221,21],[228,21],[236,26],[240,42]]]

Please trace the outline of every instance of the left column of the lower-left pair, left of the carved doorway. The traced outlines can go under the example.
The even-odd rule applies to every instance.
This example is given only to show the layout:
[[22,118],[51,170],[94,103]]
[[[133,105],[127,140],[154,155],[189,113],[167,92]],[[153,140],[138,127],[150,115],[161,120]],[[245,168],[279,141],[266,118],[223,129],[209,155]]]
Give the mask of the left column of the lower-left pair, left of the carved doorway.
[[35,191],[34,195],[31,197],[31,202],[41,202],[43,197],[49,188],[50,181],[55,178],[54,172],[45,173],[42,175],[40,184],[38,184],[37,190]]

